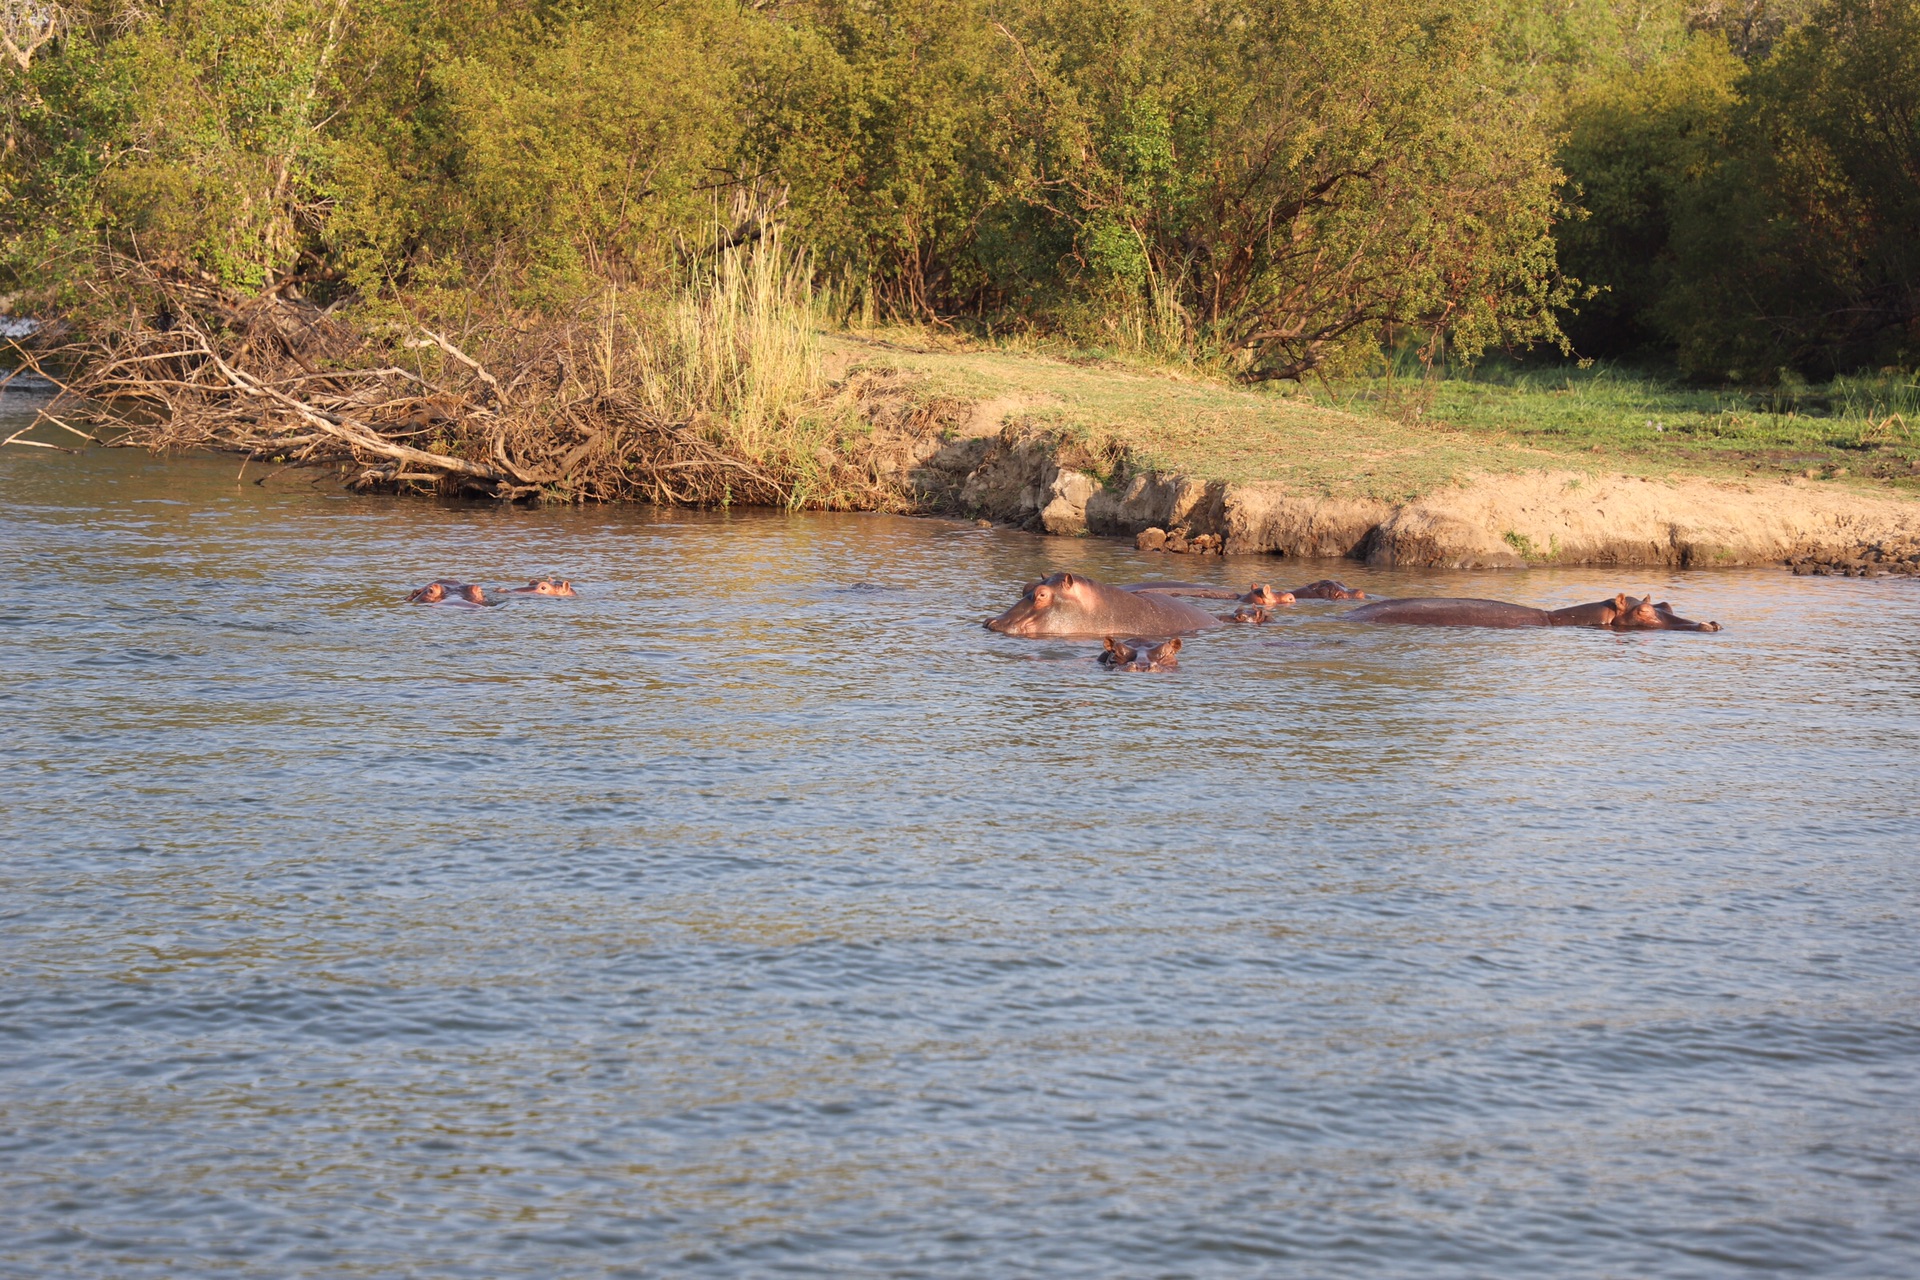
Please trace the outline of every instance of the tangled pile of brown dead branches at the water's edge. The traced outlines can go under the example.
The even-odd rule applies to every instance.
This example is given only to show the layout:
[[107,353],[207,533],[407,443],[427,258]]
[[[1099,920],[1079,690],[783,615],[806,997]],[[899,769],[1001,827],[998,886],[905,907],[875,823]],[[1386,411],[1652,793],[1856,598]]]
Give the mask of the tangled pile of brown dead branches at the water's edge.
[[614,351],[589,320],[509,319],[455,342],[434,324],[361,326],[292,290],[238,297],[148,263],[119,263],[117,284],[132,299],[119,319],[60,345],[15,344],[23,367],[61,388],[46,416],[108,426],[96,434],[115,445],[330,464],[357,489],[845,505],[806,497],[822,491],[814,474],[726,447],[712,422],[666,418],[643,393],[643,357]]

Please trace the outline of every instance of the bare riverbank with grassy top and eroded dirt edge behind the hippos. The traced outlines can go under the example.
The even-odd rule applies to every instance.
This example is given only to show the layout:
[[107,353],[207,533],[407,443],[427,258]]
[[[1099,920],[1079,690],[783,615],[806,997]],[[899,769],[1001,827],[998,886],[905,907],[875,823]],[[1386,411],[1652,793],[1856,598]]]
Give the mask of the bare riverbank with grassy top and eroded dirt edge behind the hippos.
[[1430,416],[1440,397],[1390,416],[897,336],[835,336],[826,359],[918,507],[1054,535],[1377,566],[1920,570],[1920,441],[1903,420],[1772,415],[1741,439],[1736,411],[1636,426],[1620,403],[1626,422],[1571,430],[1565,411],[1528,426],[1511,395],[1448,422]]

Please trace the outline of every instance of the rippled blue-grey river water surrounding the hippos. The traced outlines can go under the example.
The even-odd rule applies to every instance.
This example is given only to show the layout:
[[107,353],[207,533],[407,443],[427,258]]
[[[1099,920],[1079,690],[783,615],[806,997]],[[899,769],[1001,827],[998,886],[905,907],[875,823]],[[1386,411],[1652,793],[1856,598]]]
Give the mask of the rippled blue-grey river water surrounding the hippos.
[[1920,1274],[1920,581],[236,468],[0,451],[4,1274]]

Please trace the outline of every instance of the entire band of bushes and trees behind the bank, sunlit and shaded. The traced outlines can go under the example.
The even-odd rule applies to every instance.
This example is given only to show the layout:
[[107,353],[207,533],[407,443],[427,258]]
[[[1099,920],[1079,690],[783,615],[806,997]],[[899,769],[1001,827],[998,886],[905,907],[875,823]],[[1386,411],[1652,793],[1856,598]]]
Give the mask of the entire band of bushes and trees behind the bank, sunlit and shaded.
[[1711,378],[1920,361],[1920,0],[0,0],[0,31],[25,307],[117,305],[134,255],[566,311],[778,213],[843,305],[1248,378],[1561,322]]

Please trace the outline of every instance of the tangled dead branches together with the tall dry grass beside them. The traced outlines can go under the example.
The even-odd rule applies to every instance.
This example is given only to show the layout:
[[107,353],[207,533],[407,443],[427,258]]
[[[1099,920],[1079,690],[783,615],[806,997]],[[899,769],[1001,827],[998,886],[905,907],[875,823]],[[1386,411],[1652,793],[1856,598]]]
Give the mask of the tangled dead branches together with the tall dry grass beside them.
[[[132,305],[23,361],[52,415],[121,445],[342,466],[359,489],[501,499],[891,507],[828,395],[810,271],[778,230],[666,296],[609,290],[572,317],[501,313],[451,334],[292,292],[238,297],[115,263]],[[405,319],[394,319],[401,315]]]

